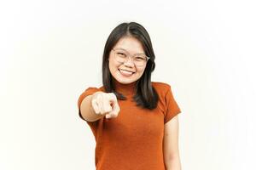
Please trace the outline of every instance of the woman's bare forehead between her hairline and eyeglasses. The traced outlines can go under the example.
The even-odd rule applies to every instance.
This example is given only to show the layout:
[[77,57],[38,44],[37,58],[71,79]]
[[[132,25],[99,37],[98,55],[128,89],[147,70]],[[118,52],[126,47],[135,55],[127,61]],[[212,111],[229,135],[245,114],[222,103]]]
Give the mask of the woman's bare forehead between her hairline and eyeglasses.
[[132,54],[144,53],[142,43],[135,37],[122,37],[113,48],[123,48]]

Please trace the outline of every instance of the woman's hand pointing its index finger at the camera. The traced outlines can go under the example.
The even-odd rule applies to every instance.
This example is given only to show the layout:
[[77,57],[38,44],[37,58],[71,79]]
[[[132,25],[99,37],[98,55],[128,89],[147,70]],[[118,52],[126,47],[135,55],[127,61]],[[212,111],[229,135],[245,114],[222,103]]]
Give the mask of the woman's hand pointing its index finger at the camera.
[[117,117],[120,111],[118,100],[113,93],[96,92],[92,95],[91,105],[96,114],[106,118]]

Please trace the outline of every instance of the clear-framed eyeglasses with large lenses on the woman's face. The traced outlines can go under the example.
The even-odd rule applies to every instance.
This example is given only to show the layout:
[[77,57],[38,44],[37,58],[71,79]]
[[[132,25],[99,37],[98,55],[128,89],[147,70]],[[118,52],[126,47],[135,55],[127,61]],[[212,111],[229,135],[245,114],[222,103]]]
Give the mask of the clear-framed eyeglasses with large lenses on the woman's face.
[[137,66],[143,66],[147,64],[149,57],[145,54],[134,54],[131,56],[129,52],[125,49],[117,48],[112,49],[114,52],[114,59],[116,59],[119,63],[125,63],[127,59],[131,58],[133,63]]

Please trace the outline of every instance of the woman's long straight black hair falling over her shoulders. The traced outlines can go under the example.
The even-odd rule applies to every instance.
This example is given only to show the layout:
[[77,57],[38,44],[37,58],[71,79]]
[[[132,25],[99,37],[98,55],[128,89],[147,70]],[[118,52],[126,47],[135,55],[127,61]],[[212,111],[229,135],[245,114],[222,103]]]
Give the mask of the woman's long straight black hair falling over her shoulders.
[[138,106],[153,110],[157,106],[159,96],[156,90],[151,84],[151,73],[154,71],[154,50],[152,43],[148,35],[148,31],[138,24],[137,22],[121,23],[116,26],[108,36],[108,40],[105,44],[103,59],[102,59],[102,83],[106,93],[114,93],[117,99],[125,100],[126,97],[123,94],[119,94],[115,91],[113,77],[109,71],[109,54],[113,46],[122,37],[135,37],[143,45],[144,53],[150,58],[148,59],[146,68],[143,72],[143,76],[136,82],[136,94],[133,99]]

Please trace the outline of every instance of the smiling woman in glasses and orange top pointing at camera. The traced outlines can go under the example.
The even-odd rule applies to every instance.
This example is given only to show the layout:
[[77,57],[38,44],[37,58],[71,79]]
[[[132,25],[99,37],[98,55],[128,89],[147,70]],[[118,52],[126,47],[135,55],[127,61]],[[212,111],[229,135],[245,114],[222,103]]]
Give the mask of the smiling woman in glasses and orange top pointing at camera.
[[171,86],[151,82],[154,50],[136,22],[116,26],[105,44],[102,84],[79,96],[79,116],[96,139],[97,170],[180,170],[180,108]]

